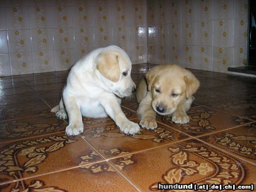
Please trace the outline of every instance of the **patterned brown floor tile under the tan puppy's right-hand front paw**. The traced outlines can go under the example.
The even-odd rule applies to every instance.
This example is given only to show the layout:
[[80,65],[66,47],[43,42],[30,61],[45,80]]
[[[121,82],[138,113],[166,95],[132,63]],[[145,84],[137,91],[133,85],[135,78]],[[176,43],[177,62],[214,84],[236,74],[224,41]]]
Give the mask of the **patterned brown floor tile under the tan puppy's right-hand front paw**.
[[191,136],[206,135],[251,122],[249,119],[201,106],[191,107],[188,116],[190,120],[189,123],[186,124],[176,124],[172,122],[171,116],[157,116],[157,120],[168,126],[178,128],[181,132],[185,132]]

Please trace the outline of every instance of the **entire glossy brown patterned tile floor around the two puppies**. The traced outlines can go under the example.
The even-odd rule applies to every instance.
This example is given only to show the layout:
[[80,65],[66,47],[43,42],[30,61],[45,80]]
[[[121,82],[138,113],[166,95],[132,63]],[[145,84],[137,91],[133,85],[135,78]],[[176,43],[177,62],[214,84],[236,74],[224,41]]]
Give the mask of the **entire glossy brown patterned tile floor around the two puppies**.
[[[133,65],[136,84],[150,64]],[[67,122],[49,112],[68,72],[0,78],[0,191],[150,191],[160,183],[256,183],[256,79],[191,69],[201,86],[188,124],[120,133],[109,118]],[[138,122],[134,98],[126,116]],[[184,190],[185,191],[185,190]],[[189,191],[189,190],[188,190]]]

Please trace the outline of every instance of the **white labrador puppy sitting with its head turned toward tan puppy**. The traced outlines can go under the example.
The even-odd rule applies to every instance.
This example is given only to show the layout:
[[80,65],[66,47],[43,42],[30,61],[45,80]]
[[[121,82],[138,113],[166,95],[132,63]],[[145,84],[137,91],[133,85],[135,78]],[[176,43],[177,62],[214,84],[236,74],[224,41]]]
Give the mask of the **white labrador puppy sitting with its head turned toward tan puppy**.
[[58,106],[52,108],[59,119],[69,119],[67,135],[84,131],[82,116],[110,116],[126,134],[139,132],[139,125],[128,120],[121,110],[121,98],[134,93],[131,60],[123,49],[110,45],[88,53],[68,74]]

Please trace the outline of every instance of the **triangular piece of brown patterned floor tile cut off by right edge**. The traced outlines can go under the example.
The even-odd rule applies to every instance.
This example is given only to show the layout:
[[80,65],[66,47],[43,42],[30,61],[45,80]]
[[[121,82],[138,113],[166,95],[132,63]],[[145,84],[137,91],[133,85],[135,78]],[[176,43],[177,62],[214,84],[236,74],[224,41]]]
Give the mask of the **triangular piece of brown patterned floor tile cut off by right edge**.
[[256,123],[213,133],[199,139],[256,165]]

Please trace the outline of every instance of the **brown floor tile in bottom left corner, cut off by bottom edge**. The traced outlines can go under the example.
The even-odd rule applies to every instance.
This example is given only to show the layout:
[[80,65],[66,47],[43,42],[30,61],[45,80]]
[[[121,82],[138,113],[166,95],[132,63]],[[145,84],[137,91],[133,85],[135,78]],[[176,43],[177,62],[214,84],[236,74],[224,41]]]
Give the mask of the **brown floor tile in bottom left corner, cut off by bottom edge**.
[[[1,189],[1,185],[0,185]],[[138,191],[106,162],[2,186],[7,191]]]

